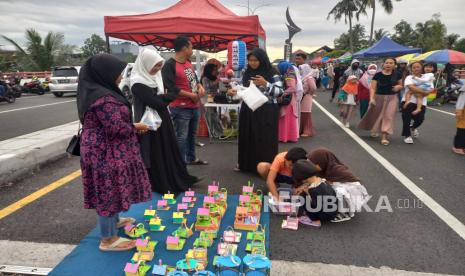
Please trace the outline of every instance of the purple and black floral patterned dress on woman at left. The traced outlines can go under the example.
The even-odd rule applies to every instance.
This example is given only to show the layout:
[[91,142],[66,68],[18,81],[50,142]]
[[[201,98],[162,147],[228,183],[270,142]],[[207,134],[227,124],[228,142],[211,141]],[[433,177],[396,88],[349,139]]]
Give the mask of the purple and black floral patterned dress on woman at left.
[[112,96],[98,99],[85,114],[81,169],[84,207],[100,216],[152,197],[129,108]]

